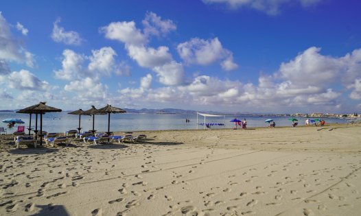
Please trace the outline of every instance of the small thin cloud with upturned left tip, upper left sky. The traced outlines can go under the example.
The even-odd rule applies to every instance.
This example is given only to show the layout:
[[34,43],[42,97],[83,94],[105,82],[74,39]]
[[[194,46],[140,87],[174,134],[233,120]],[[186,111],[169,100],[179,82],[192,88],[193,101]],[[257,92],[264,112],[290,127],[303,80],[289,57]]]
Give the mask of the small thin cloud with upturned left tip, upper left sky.
[[65,43],[66,45],[80,45],[82,38],[78,32],[65,31],[64,27],[58,25],[60,19],[54,22],[53,32],[51,32],[51,38],[58,43]]

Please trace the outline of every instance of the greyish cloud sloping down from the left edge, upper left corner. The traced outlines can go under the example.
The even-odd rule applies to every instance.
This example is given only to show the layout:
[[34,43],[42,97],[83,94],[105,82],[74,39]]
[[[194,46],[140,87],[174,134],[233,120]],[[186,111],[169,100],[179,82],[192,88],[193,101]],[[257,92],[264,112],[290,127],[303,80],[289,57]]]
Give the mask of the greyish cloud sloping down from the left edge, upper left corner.
[[10,25],[0,12],[0,60],[25,62],[27,66],[34,66],[34,55],[21,46],[11,34]]

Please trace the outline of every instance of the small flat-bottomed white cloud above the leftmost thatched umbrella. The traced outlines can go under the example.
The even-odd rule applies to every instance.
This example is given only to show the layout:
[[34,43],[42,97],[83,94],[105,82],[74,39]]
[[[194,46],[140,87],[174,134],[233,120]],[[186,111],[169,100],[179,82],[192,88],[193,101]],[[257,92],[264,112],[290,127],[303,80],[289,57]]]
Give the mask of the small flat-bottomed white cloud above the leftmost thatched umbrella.
[[39,80],[38,77],[27,70],[14,71],[5,80],[9,88],[20,90],[46,91],[49,88],[48,82]]

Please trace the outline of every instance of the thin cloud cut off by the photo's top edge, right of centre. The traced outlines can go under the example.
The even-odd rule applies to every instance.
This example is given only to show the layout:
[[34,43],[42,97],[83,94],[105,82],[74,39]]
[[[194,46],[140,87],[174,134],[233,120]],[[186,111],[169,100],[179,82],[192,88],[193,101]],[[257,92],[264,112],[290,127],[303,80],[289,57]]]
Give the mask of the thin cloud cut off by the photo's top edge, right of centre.
[[[252,8],[259,10],[261,12],[266,12],[270,15],[276,15],[280,13],[280,8],[282,5],[292,4],[292,0],[202,0],[204,3],[213,4],[213,3],[222,3],[229,6],[229,8]],[[309,7],[311,5],[316,5],[323,0],[296,0],[301,6]]]

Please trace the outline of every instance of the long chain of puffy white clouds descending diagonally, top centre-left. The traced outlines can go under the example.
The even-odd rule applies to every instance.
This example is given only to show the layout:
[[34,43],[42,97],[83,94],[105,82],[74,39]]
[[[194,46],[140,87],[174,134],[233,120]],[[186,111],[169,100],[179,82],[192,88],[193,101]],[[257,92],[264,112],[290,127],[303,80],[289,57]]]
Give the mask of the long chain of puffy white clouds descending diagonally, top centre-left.
[[175,62],[168,47],[148,47],[148,37],[151,35],[164,36],[175,30],[171,20],[163,20],[153,12],[145,14],[143,32],[137,29],[135,22],[113,22],[100,30],[105,37],[124,43],[128,56],[139,66],[152,69],[159,77],[159,82],[165,85],[183,84],[185,72],[183,64]]

